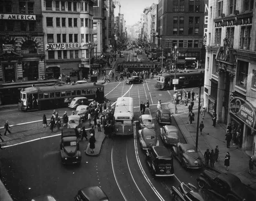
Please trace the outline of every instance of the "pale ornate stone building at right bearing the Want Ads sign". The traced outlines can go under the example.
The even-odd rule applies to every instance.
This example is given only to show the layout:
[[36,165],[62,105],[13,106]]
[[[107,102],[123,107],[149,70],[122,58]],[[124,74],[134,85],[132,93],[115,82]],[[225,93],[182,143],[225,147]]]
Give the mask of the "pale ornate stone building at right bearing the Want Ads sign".
[[209,1],[204,106],[256,155],[255,1]]

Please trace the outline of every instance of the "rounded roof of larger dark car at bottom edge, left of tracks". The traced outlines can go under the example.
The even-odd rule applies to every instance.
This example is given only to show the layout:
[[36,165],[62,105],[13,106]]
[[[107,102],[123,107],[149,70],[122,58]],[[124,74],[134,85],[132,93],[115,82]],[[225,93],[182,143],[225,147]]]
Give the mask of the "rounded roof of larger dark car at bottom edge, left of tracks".
[[80,191],[88,200],[100,201],[108,199],[108,196],[99,186],[84,187]]

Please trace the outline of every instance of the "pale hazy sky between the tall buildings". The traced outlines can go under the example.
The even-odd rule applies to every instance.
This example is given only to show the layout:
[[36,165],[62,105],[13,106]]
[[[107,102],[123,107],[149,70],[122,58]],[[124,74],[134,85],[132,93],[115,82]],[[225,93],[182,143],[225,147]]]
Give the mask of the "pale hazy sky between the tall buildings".
[[[140,14],[145,7],[158,3],[158,0],[117,0],[120,2],[120,13],[126,21],[125,25],[134,25],[140,20]],[[116,13],[115,13],[116,15]]]

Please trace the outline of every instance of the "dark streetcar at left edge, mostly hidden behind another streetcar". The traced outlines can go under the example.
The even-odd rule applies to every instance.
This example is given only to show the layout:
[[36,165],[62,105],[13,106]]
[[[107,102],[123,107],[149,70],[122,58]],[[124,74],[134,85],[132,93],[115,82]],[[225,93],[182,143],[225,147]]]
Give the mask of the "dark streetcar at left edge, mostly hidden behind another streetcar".
[[55,84],[65,84],[56,79],[33,80],[25,82],[11,82],[0,84],[0,105],[16,104],[20,99],[20,90],[22,88],[34,86],[48,86]]

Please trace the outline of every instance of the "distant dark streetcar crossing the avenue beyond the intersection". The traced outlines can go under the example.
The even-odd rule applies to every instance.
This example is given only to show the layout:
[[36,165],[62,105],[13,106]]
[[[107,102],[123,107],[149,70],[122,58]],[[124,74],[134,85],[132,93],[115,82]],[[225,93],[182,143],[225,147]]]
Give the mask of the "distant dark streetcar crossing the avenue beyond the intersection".
[[123,61],[116,64],[117,67],[115,71],[122,72],[123,69],[128,69],[129,72],[133,71],[159,71],[161,68],[161,63],[155,61]]

